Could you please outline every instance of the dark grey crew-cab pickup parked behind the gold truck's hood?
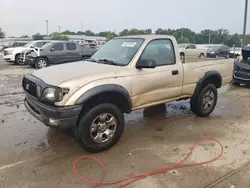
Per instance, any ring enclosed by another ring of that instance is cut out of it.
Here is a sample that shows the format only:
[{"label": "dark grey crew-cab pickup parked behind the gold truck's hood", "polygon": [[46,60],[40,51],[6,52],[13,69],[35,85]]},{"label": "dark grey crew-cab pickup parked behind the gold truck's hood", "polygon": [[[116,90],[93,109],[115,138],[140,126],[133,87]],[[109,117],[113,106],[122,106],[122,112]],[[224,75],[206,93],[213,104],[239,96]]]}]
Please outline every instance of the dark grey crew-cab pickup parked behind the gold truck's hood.
[{"label": "dark grey crew-cab pickup parked behind the gold truck's hood", "polygon": [[21,61],[37,69],[51,64],[80,61],[91,57],[97,50],[82,47],[74,42],[50,41],[38,52],[30,50],[21,54]]}]

